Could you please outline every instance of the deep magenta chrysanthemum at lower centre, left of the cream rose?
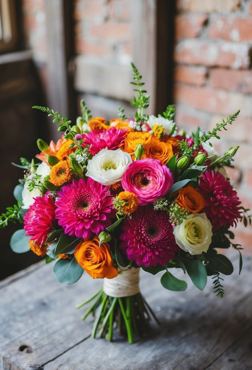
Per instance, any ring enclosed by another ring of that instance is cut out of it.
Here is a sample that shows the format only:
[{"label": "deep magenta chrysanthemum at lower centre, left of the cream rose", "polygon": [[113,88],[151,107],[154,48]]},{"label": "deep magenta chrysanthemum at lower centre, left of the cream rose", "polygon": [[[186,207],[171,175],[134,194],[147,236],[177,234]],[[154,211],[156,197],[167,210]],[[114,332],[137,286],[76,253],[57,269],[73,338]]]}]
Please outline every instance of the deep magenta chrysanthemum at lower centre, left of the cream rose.
[{"label": "deep magenta chrysanthemum at lower centre, left of the cream rose", "polygon": [[129,260],[138,266],[166,265],[179,250],[173,227],[165,211],[154,211],[153,206],[138,207],[132,218],[123,220],[124,233],[120,244]]}]

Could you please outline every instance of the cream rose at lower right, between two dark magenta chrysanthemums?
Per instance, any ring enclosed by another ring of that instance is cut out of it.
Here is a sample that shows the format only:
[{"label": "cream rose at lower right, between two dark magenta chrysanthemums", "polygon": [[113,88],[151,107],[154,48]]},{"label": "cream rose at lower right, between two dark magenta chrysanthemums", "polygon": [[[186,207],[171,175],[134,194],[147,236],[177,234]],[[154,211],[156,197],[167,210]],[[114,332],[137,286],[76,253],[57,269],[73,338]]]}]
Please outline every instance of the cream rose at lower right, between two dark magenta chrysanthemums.
[{"label": "cream rose at lower right, between two dark magenta chrysanthemums", "polygon": [[191,213],[173,233],[178,246],[191,255],[207,252],[212,238],[212,225],[205,213]]}]

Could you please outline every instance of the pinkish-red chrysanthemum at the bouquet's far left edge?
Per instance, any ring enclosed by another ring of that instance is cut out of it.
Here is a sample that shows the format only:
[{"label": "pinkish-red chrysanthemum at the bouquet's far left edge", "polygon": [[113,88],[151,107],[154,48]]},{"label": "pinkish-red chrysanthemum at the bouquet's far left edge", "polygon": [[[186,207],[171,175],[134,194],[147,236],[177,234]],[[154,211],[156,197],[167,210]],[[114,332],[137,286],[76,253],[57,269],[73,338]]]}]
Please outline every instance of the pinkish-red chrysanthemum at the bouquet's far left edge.
[{"label": "pinkish-red chrysanthemum at the bouquet's far left edge", "polygon": [[29,211],[24,215],[25,235],[31,235],[30,240],[44,244],[48,234],[55,226],[55,203],[51,196],[36,196]]}]

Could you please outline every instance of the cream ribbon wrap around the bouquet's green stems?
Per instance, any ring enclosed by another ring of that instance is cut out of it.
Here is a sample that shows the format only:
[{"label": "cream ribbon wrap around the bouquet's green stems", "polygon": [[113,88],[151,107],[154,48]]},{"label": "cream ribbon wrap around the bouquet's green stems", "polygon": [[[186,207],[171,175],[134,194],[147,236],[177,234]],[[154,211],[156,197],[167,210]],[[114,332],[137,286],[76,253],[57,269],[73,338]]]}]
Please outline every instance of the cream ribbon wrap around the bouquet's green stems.
[{"label": "cream ribbon wrap around the bouquet's green stems", "polygon": [[122,273],[113,279],[104,278],[103,291],[110,297],[120,298],[133,296],[139,290],[139,270],[121,267]]}]

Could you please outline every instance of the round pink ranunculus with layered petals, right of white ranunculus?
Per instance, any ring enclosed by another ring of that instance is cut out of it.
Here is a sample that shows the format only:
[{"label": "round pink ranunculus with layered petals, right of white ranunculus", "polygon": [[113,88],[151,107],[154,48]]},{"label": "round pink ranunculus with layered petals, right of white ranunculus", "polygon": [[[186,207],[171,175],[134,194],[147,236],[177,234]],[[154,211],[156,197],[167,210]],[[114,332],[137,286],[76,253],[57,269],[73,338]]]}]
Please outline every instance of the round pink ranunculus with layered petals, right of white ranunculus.
[{"label": "round pink ranunculus with layered petals, right of white ranunculus", "polygon": [[122,177],[123,189],[137,195],[139,205],[162,198],[173,185],[173,174],[158,159],[140,159],[129,165]]}]

